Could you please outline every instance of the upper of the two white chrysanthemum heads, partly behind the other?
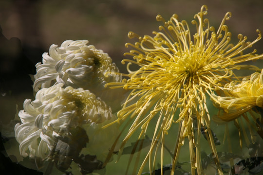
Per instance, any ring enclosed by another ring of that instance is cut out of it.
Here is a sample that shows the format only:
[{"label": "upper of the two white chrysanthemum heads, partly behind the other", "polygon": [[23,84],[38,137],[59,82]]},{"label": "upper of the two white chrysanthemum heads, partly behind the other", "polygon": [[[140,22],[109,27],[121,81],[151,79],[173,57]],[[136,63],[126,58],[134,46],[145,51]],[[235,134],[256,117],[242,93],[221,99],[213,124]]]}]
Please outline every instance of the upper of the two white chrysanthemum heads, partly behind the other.
[{"label": "upper of the two white chrysanthemum heads, partly behind the other", "polygon": [[87,44],[88,40],[66,40],[60,47],[51,45],[49,53],[43,53],[43,63],[36,64],[34,90],[62,83],[88,89],[106,101],[115,100],[114,92],[104,85],[121,82],[119,70],[107,53]]}]

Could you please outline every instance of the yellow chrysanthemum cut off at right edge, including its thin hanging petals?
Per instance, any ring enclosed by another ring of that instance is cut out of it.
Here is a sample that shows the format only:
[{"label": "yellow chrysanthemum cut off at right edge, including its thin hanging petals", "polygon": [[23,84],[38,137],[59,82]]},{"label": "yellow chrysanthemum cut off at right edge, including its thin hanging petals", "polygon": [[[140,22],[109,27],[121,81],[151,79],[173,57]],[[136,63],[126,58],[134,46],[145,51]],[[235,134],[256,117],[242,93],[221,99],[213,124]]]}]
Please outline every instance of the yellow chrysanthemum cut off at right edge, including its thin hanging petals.
[{"label": "yellow chrysanthemum cut off at right edge, including its thin hanging petals", "polygon": [[[263,120],[261,117],[263,114],[263,70],[261,73],[255,72],[250,77],[243,78],[242,82],[232,81],[226,84],[223,92],[224,96],[212,94],[215,105],[225,111],[214,117],[214,120],[218,123],[234,121],[239,128],[239,136],[241,136],[240,128],[242,128],[246,144],[249,145],[243,122],[238,120],[242,116],[251,133],[251,141],[255,141],[252,128],[263,138]],[[249,120],[246,112],[250,113],[252,120]],[[255,112],[261,113],[261,115],[255,115]],[[241,137],[240,145],[242,146]]]}]

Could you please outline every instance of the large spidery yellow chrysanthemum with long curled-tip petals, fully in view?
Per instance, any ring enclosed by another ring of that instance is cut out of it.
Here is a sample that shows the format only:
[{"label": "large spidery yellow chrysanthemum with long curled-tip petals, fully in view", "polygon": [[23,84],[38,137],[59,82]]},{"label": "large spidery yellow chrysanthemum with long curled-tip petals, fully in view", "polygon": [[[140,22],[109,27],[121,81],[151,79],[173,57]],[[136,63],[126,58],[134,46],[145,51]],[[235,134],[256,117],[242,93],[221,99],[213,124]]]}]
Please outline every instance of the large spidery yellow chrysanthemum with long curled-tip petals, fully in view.
[{"label": "large spidery yellow chrysanthemum with long curled-tip petals, fully in view", "polygon": [[[196,26],[196,33],[191,35],[188,23],[179,21],[177,15],[173,15],[169,21],[165,21],[160,15],[157,21],[163,21],[160,31],[153,32],[151,37],[138,36],[132,32],[129,37],[138,38],[139,42],[126,44],[134,50],[125,55],[133,56],[134,60],[124,59],[128,62],[129,77],[121,83],[107,84],[111,88],[130,89],[131,93],[123,108],[118,112],[118,122],[122,122],[130,116],[134,119],[124,138],[121,148],[127,140],[139,128],[141,134],[138,139],[144,137],[150,121],[157,118],[150,151],[145,157],[138,174],[141,174],[147,161],[150,161],[150,171],[154,169],[155,157],[158,148],[161,148],[161,174],[163,173],[163,154],[165,135],[173,123],[179,123],[179,132],[175,144],[172,172],[174,173],[181,146],[185,138],[189,141],[191,172],[203,175],[200,158],[200,128],[207,128],[208,143],[215,155],[215,163],[218,173],[222,175],[217,151],[210,129],[210,116],[207,109],[207,97],[211,92],[224,87],[234,76],[232,70],[256,69],[253,66],[237,65],[250,60],[262,58],[263,55],[253,53],[243,54],[243,51],[251,47],[261,39],[261,34],[253,42],[246,42],[246,37],[238,35],[239,42],[230,44],[231,33],[225,25],[231,13],[226,13],[218,30],[209,25],[204,16],[207,15],[207,6],[194,16],[192,24]],[[258,31],[259,32],[259,31]],[[192,37],[192,38],[191,38]],[[129,66],[135,64],[138,70],[131,71]],[[176,112],[179,112],[179,117]],[[197,132],[194,132],[194,121],[197,121]],[[196,135],[196,136],[195,136]],[[119,156],[121,155],[119,152]]]}]

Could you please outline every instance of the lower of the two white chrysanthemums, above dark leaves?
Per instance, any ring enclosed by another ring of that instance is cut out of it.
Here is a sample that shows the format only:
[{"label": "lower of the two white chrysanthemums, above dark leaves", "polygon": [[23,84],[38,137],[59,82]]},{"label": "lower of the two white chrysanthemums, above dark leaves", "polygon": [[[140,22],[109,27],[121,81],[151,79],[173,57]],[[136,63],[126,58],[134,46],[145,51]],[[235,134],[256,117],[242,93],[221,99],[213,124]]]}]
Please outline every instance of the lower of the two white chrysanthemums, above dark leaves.
[{"label": "lower of the two white chrysanthemums, above dark leaves", "polygon": [[[21,123],[15,126],[20,154],[23,157],[45,158],[59,140],[73,140],[64,142],[69,145],[69,150],[80,149],[75,155],[79,156],[83,147],[79,144],[83,144],[84,140],[83,149],[90,150],[82,152],[104,161],[118,133],[116,126],[101,128],[116,119],[111,108],[89,90],[62,86],[57,84],[42,88],[37,92],[36,100],[24,101],[24,110],[19,111]],[[84,135],[81,131],[85,131]],[[88,139],[85,142],[84,138],[75,136],[87,136]],[[95,148],[96,152],[92,152]],[[57,150],[57,147],[56,151],[65,153],[65,150]]]}]

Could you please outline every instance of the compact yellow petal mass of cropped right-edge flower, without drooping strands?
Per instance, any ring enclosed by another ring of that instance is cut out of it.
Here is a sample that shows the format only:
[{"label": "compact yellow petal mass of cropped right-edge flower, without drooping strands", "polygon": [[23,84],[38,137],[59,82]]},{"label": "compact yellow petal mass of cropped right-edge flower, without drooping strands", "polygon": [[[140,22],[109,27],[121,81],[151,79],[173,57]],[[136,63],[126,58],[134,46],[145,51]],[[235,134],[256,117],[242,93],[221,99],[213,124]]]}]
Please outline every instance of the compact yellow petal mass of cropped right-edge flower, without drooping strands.
[{"label": "compact yellow petal mass of cropped right-edge flower, without drooping strands", "polygon": [[263,107],[263,71],[255,72],[251,76],[243,78],[241,83],[232,81],[225,85],[225,95],[213,94],[216,105],[224,109],[226,113],[218,116],[223,121],[232,121],[245,112],[258,106]]}]

